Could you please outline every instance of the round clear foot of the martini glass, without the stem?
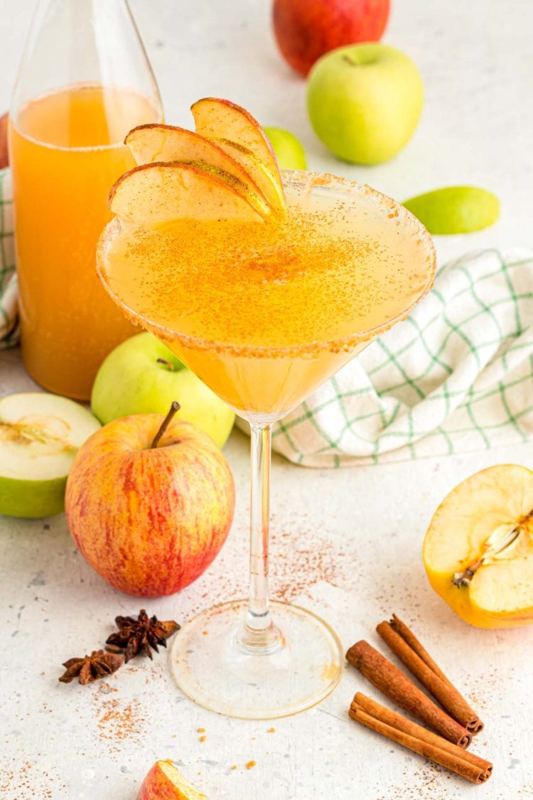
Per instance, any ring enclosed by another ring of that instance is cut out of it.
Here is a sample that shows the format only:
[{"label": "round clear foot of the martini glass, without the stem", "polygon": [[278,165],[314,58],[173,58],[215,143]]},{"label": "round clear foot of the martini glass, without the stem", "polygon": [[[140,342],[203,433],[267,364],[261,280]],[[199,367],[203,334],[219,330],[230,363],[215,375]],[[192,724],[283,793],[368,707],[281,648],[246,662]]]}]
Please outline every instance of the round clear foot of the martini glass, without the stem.
[{"label": "round clear foot of the martini glass, without the stem", "polygon": [[311,611],[270,607],[279,644],[259,654],[238,642],[248,601],[213,606],[188,622],[169,654],[177,686],[199,705],[241,719],[287,717],[324,700],[344,666],[339,638]]}]

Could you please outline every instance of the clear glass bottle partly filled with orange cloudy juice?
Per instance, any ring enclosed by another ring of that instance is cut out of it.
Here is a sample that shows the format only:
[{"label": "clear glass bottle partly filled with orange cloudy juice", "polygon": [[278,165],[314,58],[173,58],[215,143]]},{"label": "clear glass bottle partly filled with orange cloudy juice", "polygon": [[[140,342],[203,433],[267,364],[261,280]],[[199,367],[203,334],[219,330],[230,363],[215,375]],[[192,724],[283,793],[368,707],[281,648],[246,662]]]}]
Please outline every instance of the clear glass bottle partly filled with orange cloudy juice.
[{"label": "clear glass bottle partly filled with orange cloudy juice", "polygon": [[22,359],[46,389],[88,399],[133,327],[97,279],[125,134],[161,103],[125,0],[42,0],[10,112]]}]

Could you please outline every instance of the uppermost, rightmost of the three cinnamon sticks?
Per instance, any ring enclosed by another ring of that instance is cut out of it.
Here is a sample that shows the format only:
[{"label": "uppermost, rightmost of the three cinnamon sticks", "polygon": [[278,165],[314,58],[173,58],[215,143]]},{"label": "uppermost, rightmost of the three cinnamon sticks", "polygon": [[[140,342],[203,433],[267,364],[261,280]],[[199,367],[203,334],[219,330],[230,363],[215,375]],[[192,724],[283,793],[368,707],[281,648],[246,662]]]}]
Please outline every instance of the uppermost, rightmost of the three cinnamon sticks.
[{"label": "uppermost, rightmost of the three cinnamon sticks", "polygon": [[376,630],[392,652],[431,692],[451,717],[460,722],[471,734],[479,734],[479,731],[483,730],[483,722],[478,715],[436,665],[412,630],[409,630],[396,614],[392,614],[391,622],[380,622]]}]

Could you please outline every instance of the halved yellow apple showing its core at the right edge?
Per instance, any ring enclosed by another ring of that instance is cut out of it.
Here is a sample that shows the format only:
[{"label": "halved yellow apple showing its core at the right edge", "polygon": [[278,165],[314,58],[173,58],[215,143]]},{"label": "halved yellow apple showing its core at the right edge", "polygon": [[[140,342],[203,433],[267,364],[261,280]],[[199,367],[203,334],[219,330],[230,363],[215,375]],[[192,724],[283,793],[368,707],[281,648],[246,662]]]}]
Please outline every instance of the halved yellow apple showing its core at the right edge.
[{"label": "halved yellow apple showing its core at the right edge", "polygon": [[501,464],[444,498],[424,539],[437,594],[471,625],[533,623],[533,472]]}]

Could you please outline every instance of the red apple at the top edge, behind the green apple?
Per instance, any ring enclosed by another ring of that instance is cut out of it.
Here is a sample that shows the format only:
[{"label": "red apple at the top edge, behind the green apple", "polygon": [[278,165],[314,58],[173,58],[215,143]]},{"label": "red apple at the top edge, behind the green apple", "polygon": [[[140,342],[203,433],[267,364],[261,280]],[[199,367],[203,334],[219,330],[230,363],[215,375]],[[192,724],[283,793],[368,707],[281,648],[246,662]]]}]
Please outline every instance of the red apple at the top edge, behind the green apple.
[{"label": "red apple at the top edge, behind the green apple", "polygon": [[285,60],[307,75],[324,53],[355,42],[378,42],[390,0],[274,0],[272,21]]}]

